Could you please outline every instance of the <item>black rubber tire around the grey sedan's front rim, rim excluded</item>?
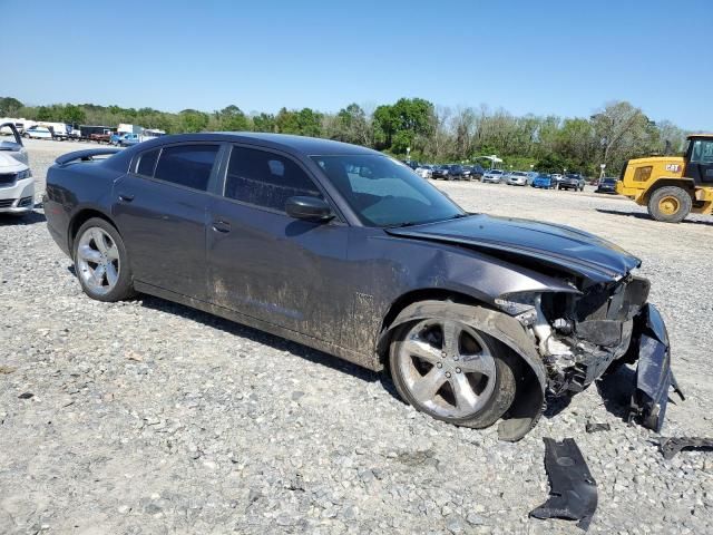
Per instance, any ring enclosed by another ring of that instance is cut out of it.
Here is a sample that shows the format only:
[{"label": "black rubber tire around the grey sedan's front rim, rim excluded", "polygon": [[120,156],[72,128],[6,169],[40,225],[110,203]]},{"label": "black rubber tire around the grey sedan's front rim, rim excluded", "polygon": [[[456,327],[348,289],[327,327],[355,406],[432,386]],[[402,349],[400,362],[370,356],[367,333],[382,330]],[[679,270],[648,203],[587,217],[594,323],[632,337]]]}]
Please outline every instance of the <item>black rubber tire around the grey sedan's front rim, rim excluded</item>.
[{"label": "black rubber tire around the grey sedan's front rim, rim excluded", "polygon": [[501,342],[478,331],[478,334],[487,343],[490,354],[495,359],[496,378],[494,391],[484,407],[476,414],[469,415],[465,418],[452,418],[438,415],[414,399],[401,374],[400,367],[397,366],[395,356],[403,343],[404,337],[413,324],[414,323],[407,323],[395,329],[389,348],[389,371],[401,399],[420,412],[424,412],[432,418],[447,421],[456,426],[482,429],[490,427],[498,421],[498,419],[507,412],[515,399],[517,383],[516,378],[519,377],[518,358],[514,356],[509,348],[504,346]]}]

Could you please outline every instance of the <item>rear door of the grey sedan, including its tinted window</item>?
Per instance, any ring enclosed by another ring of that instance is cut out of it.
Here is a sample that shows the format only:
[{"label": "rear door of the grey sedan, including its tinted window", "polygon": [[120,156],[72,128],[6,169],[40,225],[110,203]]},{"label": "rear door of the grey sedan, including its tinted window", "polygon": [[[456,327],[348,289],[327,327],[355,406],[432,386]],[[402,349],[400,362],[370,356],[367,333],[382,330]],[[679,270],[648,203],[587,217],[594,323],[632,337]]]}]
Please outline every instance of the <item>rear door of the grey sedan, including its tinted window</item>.
[{"label": "rear door of the grey sedan, including its tinted window", "polygon": [[141,153],[114,187],[114,215],[135,279],[206,299],[205,228],[219,144],[185,143]]}]

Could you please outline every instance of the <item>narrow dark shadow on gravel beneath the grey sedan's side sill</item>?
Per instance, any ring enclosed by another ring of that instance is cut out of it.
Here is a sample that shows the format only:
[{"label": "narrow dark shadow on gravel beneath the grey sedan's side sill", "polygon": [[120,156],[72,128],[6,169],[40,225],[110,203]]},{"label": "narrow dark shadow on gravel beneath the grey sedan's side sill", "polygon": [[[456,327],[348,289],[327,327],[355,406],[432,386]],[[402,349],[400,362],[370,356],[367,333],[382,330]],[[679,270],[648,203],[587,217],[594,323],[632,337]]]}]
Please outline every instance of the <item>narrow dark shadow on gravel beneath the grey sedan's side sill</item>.
[{"label": "narrow dark shadow on gravel beneath the grey sedan's side sill", "polygon": [[[158,310],[162,312],[180,315],[182,318],[197,321],[199,323],[203,323],[204,325],[219,329],[229,334],[246,338],[252,342],[263,343],[280,351],[290,351],[292,354],[295,354],[300,358],[325,366],[333,370],[349,373],[364,381],[374,382],[379,379],[379,376],[383,377],[382,373],[367,370],[365,368],[352,364],[351,362],[342,360],[338,357],[323,353],[321,351],[318,351],[316,349],[307,348],[306,346],[285,340],[284,338],[275,337],[257,329],[225,320],[223,318],[218,318],[217,315],[208,314],[189,307],[184,307],[183,304],[174,303],[152,295],[141,295],[141,303],[143,307],[152,310]],[[382,382],[384,381],[382,380]],[[388,380],[384,382],[384,388],[392,395],[397,396],[395,390],[392,386],[390,386]]]}]

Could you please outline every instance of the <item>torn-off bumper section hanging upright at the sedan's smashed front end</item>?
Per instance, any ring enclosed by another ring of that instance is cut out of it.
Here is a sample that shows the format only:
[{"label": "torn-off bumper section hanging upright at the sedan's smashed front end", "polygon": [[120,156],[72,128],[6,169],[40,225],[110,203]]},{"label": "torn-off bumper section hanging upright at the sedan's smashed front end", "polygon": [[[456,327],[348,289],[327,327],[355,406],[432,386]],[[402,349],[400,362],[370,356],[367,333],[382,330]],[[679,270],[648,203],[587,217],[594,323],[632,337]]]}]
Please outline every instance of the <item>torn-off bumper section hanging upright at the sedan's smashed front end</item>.
[{"label": "torn-off bumper section hanging upright at the sedan's smashed front end", "polygon": [[634,319],[632,350],[637,350],[638,367],[628,420],[658,432],[666,416],[668,389],[673,386],[683,399],[671,371],[671,346],[661,313],[646,304]]}]

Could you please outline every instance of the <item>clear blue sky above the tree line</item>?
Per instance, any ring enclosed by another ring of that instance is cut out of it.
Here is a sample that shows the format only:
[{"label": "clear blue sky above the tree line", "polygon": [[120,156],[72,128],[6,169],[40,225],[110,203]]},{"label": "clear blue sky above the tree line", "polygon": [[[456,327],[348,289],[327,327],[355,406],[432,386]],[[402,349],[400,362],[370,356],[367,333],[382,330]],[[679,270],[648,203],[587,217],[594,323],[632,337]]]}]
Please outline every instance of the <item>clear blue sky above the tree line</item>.
[{"label": "clear blue sky above the tree line", "polygon": [[[713,129],[713,6],[641,1],[0,0],[0,95],[245,111],[399,97]],[[674,10],[675,8],[675,10]],[[705,42],[707,41],[707,42]],[[13,50],[12,56],[7,52]]]}]

